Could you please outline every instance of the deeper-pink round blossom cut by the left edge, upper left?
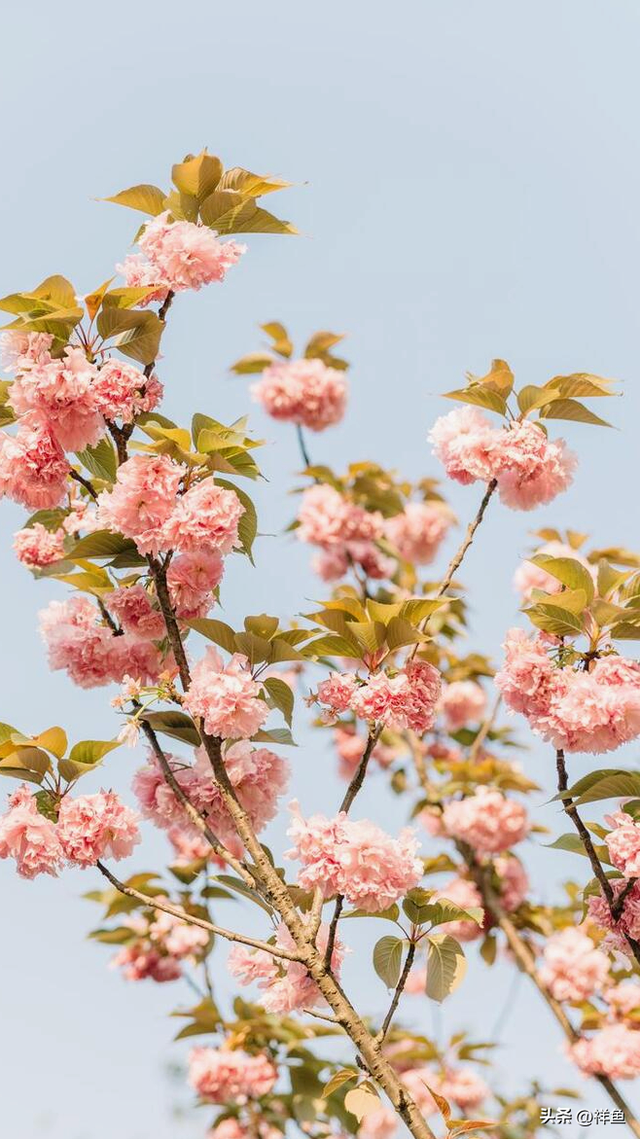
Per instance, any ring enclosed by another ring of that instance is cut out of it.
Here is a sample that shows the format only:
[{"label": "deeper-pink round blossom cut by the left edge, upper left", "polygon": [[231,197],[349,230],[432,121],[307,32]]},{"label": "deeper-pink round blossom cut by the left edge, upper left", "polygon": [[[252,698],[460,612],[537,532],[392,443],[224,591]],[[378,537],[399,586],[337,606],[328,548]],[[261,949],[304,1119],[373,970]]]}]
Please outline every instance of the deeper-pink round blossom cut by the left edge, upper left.
[{"label": "deeper-pink round blossom cut by the left edge, upper left", "polygon": [[30,510],[52,509],[66,495],[69,465],[48,424],[24,416],[15,435],[0,432],[0,498]]}]

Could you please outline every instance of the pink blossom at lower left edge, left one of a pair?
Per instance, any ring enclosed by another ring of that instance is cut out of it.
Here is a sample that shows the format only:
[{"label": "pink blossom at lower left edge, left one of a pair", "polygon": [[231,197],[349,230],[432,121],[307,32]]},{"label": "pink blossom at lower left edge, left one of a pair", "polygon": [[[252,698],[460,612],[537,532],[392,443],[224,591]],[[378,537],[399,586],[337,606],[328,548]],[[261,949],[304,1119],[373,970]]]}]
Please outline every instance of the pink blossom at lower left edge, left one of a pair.
[{"label": "pink blossom at lower left edge, left one of a pair", "polygon": [[26,784],[9,796],[9,810],[0,817],[0,859],[5,858],[15,859],[20,878],[55,877],[64,865],[57,827],[40,814]]}]

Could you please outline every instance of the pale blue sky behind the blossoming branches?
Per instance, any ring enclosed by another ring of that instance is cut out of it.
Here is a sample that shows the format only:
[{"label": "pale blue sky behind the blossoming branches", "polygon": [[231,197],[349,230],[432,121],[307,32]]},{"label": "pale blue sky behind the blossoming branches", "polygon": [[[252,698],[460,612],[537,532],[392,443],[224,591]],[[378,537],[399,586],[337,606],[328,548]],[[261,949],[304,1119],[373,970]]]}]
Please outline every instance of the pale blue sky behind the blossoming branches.
[{"label": "pale blue sky behind the blossoming branches", "polygon": [[[247,386],[225,369],[257,347],[259,322],[285,320],[300,338],[337,328],[348,331],[353,361],[350,415],[312,441],[314,457],[336,466],[375,457],[418,477],[437,474],[425,441],[446,408],[437,393],[458,386],[466,369],[481,372],[499,355],[522,384],[574,370],[618,376],[625,399],[609,411],[622,433],[568,431],[581,457],[575,487],[531,516],[492,510],[463,573],[475,582],[470,647],[498,655],[530,528],[569,524],[598,544],[638,546],[633,0],[245,0],[235,8],[61,0],[13,6],[2,32],[2,293],[56,271],[83,293],[102,281],[137,222],[95,199],[137,181],[166,182],[187,150],[208,146],[229,165],[282,174],[296,188],[273,204],[305,236],[249,238],[223,288],[174,305],[162,363],[169,411],[197,408],[222,420],[245,412]],[[270,483],[257,499],[262,528],[276,532],[292,515],[285,491],[298,462],[295,440],[255,408],[252,423],[270,443],[262,457]],[[465,519],[477,494],[457,489],[452,499]],[[76,738],[106,737],[105,694],[77,694],[44,664],[35,615],[51,595],[8,551],[20,518],[6,503],[0,510],[0,719],[24,729],[60,721]],[[230,618],[263,608],[290,615],[318,596],[295,540],[264,539],[257,558],[257,572],[237,559],[225,582]],[[327,773],[333,757],[323,741],[300,735],[295,790],[303,805],[331,810],[339,795]],[[548,762],[538,747],[524,757],[547,784]],[[109,779],[126,787],[134,763],[130,752],[116,753]],[[389,810],[372,782],[362,813],[388,825]],[[558,825],[553,809],[539,817]],[[162,849],[148,836],[136,865],[157,863]],[[525,857],[544,896],[563,872],[582,872],[576,860],[533,846]],[[107,972],[107,951],[83,940],[93,913],[79,895],[95,877],[30,884],[2,863],[0,878],[7,1134],[200,1136],[206,1113],[171,1117],[165,1067],[180,1054],[165,1014],[180,994],[125,985]],[[223,976],[222,964],[216,972]],[[347,984],[364,995],[359,972],[354,954]],[[478,983],[445,1006],[446,1031],[482,1034],[502,1007],[507,970],[490,982],[483,967],[474,975]],[[503,1085],[533,1074],[566,1083],[555,1027],[525,990],[503,1031]],[[384,1007],[378,982],[366,995],[371,1008]],[[426,1002],[411,1008],[429,1031]],[[596,1091],[588,1103],[600,1104]]]}]

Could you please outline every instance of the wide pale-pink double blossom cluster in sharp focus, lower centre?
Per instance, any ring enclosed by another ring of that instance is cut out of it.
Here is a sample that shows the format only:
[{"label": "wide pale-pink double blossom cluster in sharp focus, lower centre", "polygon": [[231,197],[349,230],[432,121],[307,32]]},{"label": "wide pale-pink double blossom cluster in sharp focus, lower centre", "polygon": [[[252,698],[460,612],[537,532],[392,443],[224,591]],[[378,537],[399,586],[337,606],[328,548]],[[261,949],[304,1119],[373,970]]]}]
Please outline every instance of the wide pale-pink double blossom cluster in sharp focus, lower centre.
[{"label": "wide pale-pink double blossom cluster in sharp focus, lower centre", "polygon": [[302,862],[297,880],[304,890],[318,886],[325,898],[343,894],[359,909],[376,913],[422,877],[411,830],[392,838],[368,819],[354,822],[344,811],[334,819],[323,814],[303,819],[297,803],[292,809],[287,835],[294,845],[285,858]]}]

